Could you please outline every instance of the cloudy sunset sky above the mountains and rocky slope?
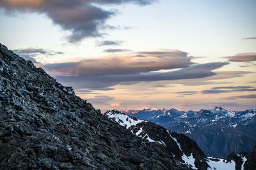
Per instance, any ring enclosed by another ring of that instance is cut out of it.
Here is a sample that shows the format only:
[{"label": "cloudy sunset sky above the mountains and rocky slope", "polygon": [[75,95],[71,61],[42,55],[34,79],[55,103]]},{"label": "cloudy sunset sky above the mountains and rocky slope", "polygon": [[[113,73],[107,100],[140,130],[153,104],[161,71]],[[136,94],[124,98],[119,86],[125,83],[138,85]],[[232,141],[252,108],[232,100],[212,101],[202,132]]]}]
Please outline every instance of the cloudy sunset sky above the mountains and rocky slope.
[{"label": "cloudy sunset sky above the mountains and rocky slope", "polygon": [[102,111],[255,109],[255,0],[0,0],[0,43]]}]

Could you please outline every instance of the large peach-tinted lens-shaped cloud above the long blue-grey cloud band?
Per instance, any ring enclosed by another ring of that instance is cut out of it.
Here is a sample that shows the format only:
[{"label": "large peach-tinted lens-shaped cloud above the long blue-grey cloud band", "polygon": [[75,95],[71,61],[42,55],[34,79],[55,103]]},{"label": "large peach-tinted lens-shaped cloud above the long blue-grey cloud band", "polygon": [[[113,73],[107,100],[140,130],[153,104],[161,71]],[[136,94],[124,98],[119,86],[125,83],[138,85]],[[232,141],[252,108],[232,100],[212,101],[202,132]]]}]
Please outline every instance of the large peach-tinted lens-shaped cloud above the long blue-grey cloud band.
[{"label": "large peach-tinted lens-shaped cloud above the long blue-grey cloud band", "polygon": [[[140,53],[140,52],[139,52]],[[79,62],[64,62],[57,64],[45,64],[49,71],[69,73],[73,76],[90,76],[100,74],[139,74],[161,69],[179,69],[189,67],[193,57],[179,50],[164,50],[160,56],[158,53],[145,54],[138,57],[138,53],[124,53],[109,57],[83,59]],[[179,54],[179,55],[178,55]],[[202,73],[203,74],[203,73]]]}]

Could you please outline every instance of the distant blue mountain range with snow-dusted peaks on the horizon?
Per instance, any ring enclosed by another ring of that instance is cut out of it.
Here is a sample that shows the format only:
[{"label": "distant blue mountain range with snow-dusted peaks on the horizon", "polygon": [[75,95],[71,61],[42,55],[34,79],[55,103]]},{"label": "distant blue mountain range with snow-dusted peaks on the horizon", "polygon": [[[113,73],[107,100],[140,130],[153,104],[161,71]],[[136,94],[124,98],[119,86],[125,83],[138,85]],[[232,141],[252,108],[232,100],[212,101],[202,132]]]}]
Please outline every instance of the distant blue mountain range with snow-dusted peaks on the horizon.
[{"label": "distant blue mountain range with snow-dusted peaks on the horizon", "polygon": [[256,110],[230,111],[216,107],[188,112],[175,109],[122,112],[186,134],[208,157],[223,159],[232,152],[249,152],[256,145]]}]

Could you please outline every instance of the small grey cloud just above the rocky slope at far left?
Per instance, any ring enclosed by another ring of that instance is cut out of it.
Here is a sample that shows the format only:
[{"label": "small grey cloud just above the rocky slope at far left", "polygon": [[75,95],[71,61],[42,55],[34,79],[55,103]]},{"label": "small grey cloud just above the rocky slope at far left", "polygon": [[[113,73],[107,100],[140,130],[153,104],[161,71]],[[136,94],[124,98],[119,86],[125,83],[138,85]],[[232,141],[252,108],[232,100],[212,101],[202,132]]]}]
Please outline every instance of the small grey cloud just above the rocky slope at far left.
[{"label": "small grey cloud just above the rocky slope at far left", "polygon": [[46,57],[47,55],[60,55],[63,54],[63,52],[54,52],[51,50],[45,50],[43,48],[22,48],[22,49],[15,49],[13,52],[20,55],[20,57],[23,57],[26,60],[31,60],[34,64],[40,64],[36,60],[36,57],[38,55],[44,55]]}]

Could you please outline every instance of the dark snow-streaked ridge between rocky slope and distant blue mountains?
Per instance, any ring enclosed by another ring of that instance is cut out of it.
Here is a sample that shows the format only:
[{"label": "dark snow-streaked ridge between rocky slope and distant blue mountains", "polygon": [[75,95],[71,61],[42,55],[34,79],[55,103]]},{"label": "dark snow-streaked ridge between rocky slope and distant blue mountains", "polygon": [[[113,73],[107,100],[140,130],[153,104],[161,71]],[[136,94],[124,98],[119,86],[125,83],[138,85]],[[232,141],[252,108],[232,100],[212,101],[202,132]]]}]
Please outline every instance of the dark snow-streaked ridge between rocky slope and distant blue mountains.
[{"label": "dark snow-streaked ridge between rocky slope and distant blue mountains", "polygon": [[255,148],[250,153],[232,153],[228,155],[227,160],[206,157],[195,141],[184,134],[168,131],[157,124],[130,117],[117,110],[109,110],[106,115],[129,129],[136,136],[163,145],[168,153],[180,160],[180,164],[188,165],[192,169],[252,169],[253,164],[255,164],[253,159],[256,153]]}]

